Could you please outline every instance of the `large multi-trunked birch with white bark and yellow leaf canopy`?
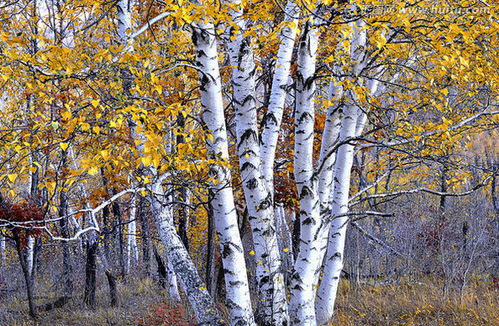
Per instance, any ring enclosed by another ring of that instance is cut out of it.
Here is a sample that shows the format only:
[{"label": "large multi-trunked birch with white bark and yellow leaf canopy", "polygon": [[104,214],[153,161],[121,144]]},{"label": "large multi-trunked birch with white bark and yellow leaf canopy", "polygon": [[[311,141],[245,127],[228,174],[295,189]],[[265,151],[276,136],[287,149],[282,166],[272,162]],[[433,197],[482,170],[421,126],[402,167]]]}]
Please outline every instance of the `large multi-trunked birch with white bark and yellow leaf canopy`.
[{"label": "large multi-trunked birch with white bark and yellow leaf canopy", "polygon": [[[25,188],[43,189],[44,241],[63,241],[67,253],[69,241],[86,237],[91,305],[97,261],[113,261],[108,239],[123,223],[127,250],[117,258],[126,255],[128,268],[138,260],[136,235],[149,231],[135,223],[137,201],[147,199],[141,210],[154,219],[157,253],[167,258],[170,301],[185,298],[199,324],[328,324],[348,223],[386,216],[362,211],[366,201],[417,190],[377,193],[390,168],[380,164],[374,181],[357,182],[352,171],[367,171],[355,156],[431,160],[497,114],[497,81],[488,77],[497,65],[485,50],[495,23],[479,28],[478,16],[455,13],[422,23],[420,12],[408,13],[429,1],[397,2],[400,11],[381,14],[370,11],[374,1],[50,2],[68,8],[48,15],[53,35],[23,30],[31,15],[23,4],[9,11],[12,19],[0,18],[0,95],[12,97],[1,109],[1,198],[19,204]],[[66,42],[49,42],[67,26]],[[34,40],[44,45],[26,50]],[[20,119],[18,107],[30,107],[30,119]],[[26,187],[29,177],[37,180]],[[279,187],[289,188],[287,198]],[[176,196],[181,188],[189,200]],[[422,189],[448,195],[430,188]],[[111,222],[109,205],[124,203],[130,209],[116,209]],[[212,208],[216,237],[206,245],[215,258],[219,244],[228,321],[206,289],[216,280],[206,286],[198,272],[217,262],[204,261],[204,243],[192,249],[203,232],[192,234],[194,222],[176,225],[179,205],[200,220],[208,214],[196,206]],[[22,226],[0,225],[7,236]],[[23,257],[32,271],[31,256]]]}]

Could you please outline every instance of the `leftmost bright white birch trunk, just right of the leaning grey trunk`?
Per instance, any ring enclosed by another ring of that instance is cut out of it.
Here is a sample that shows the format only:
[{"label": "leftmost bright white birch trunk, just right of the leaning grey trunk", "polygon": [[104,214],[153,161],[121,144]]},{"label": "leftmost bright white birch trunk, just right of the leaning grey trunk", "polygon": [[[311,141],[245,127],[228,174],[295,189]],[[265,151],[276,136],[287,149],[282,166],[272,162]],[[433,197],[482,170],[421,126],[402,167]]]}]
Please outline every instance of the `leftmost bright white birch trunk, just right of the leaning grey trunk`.
[{"label": "leftmost bright white birch trunk, just right of the leaning grey trunk", "polygon": [[[214,35],[215,30],[212,24],[200,24],[193,27],[192,40],[196,48],[201,78],[202,120],[209,129],[210,135],[207,140],[208,153],[213,159],[227,161],[229,158],[227,130]],[[230,170],[221,164],[216,164],[212,166],[211,173],[216,180],[212,183],[215,194],[212,206],[225,269],[230,323],[231,325],[254,325]]]}]

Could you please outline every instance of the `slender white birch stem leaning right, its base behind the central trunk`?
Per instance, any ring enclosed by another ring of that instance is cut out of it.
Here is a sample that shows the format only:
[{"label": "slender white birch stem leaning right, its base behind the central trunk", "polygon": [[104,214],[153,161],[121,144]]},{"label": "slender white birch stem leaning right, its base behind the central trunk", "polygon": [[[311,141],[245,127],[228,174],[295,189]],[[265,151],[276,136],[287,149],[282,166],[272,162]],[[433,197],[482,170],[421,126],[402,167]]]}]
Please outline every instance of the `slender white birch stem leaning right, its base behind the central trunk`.
[{"label": "slender white birch stem leaning right, its base behind the central trunk", "polygon": [[[281,128],[282,115],[286,100],[286,87],[290,79],[291,57],[296,39],[296,28],[299,15],[299,7],[293,0],[289,0],[285,8],[284,23],[287,25],[281,29],[281,43],[277,52],[274,76],[272,77],[272,89],[270,91],[269,107],[263,119],[263,130],[261,137],[261,161],[262,173],[269,189],[274,189],[274,158]],[[291,25],[291,26],[290,26]]]}]

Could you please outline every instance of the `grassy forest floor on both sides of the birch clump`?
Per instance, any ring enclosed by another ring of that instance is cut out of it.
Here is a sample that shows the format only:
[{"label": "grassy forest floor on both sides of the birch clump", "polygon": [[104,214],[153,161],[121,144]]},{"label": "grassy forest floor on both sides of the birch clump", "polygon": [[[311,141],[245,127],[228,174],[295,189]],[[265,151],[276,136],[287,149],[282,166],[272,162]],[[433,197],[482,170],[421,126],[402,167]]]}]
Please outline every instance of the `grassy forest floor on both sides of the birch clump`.
[{"label": "grassy forest floor on both sides of the birch clump", "polygon": [[[104,285],[104,284],[103,284]],[[443,295],[436,282],[364,283],[343,281],[333,326],[481,326],[499,325],[499,288],[490,281],[474,281],[462,293]],[[41,293],[46,293],[41,291]],[[118,307],[110,307],[107,288],[97,293],[96,309],[77,297],[61,308],[40,311],[37,321],[27,314],[24,293],[0,297],[0,325],[195,325],[186,307],[167,303],[165,291],[150,280],[128,280],[119,285]],[[38,298],[37,306],[57,296]],[[43,309],[39,309],[43,310]]]}]

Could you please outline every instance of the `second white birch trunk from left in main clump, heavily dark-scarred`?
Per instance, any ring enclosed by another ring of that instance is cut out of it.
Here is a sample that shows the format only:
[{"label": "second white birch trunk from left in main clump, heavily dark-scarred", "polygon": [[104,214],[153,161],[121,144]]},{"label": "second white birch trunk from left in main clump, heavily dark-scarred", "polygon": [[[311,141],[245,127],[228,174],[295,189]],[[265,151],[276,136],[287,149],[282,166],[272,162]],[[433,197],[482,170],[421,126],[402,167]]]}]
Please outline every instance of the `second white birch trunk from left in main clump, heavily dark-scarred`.
[{"label": "second white birch trunk from left in main clump, heavily dark-scarred", "polygon": [[[234,2],[233,2],[234,3]],[[288,325],[284,276],[277,242],[272,193],[261,170],[255,100],[255,61],[241,12],[232,12],[239,32],[229,43],[239,166],[255,249],[258,322]]]}]

